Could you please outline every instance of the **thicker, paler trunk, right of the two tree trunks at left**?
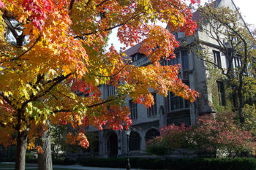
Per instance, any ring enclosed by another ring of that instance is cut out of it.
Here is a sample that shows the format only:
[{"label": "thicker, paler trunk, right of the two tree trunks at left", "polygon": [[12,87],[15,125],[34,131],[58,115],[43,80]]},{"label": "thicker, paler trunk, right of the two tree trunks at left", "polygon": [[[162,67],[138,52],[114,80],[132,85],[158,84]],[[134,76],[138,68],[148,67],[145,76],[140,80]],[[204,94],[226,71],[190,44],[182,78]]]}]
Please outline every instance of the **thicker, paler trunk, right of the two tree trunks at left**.
[{"label": "thicker, paler trunk, right of the two tree trunks at left", "polygon": [[42,147],[44,152],[38,154],[38,170],[53,170],[50,147],[50,130],[42,133],[42,137],[39,139],[39,146]]}]

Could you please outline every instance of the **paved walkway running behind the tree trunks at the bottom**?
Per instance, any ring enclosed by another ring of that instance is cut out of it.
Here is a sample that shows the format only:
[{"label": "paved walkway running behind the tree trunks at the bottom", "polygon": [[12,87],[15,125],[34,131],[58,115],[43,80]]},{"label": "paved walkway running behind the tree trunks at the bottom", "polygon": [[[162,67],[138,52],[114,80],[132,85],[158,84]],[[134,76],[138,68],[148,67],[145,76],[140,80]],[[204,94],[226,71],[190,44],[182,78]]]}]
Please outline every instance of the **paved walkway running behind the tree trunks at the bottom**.
[{"label": "paved walkway running behind the tree trunks at the bottom", "polygon": [[[1,163],[11,163],[14,164],[14,162],[1,162]],[[26,169],[34,169],[37,168],[37,163],[26,163]],[[34,167],[33,167],[34,166]],[[91,167],[91,166],[81,166],[81,165],[71,165],[71,166],[60,166],[60,165],[53,165],[53,168],[60,168],[60,169],[83,169],[83,170],[125,170],[125,169],[118,169],[118,168],[100,168],[100,167]],[[14,169],[14,168],[0,168],[0,170],[7,170],[7,169]],[[136,169],[131,169],[136,170]],[[143,170],[143,169],[140,169]]]}]

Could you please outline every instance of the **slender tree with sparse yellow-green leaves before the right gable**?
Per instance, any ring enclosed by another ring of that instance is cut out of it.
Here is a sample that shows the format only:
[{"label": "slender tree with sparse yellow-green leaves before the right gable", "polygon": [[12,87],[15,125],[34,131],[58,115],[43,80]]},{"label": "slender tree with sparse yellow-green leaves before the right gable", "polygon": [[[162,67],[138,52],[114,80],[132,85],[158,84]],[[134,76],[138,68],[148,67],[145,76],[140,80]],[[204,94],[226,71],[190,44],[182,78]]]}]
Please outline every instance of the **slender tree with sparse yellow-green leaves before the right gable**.
[{"label": "slender tree with sparse yellow-green leaves before the right gable", "polygon": [[[252,105],[255,100],[255,36],[244,23],[238,9],[229,7],[215,7],[217,1],[200,7],[197,12],[201,18],[199,31],[206,33],[214,40],[217,48],[225,55],[227,66],[220,66],[214,62],[205,49],[205,43],[200,42],[197,49],[197,56],[209,63],[215,69],[219,69],[227,80],[227,87],[233,93],[233,105],[238,111],[241,124],[245,121],[243,108],[246,104]],[[195,50],[194,49],[194,50]]]}]

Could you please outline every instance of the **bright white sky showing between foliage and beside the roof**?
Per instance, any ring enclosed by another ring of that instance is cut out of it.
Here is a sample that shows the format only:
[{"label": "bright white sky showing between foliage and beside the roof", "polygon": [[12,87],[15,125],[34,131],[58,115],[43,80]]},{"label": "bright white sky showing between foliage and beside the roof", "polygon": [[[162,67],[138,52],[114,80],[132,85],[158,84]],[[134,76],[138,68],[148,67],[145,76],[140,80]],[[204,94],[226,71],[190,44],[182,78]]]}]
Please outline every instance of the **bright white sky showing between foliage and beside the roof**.
[{"label": "bright white sky showing between foliage and beside the roof", "polygon": [[[208,0],[200,0],[201,4],[204,4]],[[240,9],[241,15],[244,18],[246,23],[253,24],[256,28],[256,0],[233,0],[236,4],[236,7]],[[115,46],[116,50],[120,50],[120,47],[124,47],[124,45],[121,45],[120,42],[118,42],[118,39],[116,37],[117,34],[117,28],[112,31],[112,34],[110,34],[110,39],[108,41],[108,49],[111,44]]]}]

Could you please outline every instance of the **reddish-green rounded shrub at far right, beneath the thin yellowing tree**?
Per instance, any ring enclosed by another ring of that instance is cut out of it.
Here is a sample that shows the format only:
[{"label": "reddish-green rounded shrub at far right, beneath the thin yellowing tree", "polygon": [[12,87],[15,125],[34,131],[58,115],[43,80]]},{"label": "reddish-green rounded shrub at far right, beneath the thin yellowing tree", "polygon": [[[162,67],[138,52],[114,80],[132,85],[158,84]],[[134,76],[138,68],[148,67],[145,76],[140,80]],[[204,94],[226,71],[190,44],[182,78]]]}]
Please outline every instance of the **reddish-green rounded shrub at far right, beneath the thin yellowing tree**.
[{"label": "reddish-green rounded shrub at far right, beneath the thin yellowing tree", "polygon": [[252,134],[241,131],[234,123],[232,114],[225,112],[216,117],[203,116],[200,117],[199,124],[193,134],[195,150],[215,153],[220,150],[228,153],[228,157],[241,152],[252,152],[255,145]]}]

